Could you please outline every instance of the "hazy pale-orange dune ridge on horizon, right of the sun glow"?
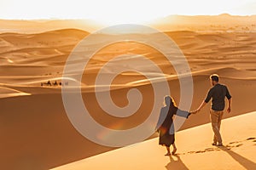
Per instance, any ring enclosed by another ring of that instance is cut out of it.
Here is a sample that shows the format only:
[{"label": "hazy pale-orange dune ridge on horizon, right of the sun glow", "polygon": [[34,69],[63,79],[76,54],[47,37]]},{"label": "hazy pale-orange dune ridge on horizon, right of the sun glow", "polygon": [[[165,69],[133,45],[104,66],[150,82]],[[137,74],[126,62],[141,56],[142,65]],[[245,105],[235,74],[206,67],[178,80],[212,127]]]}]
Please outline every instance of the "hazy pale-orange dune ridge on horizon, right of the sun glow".
[{"label": "hazy pale-orange dune ridge on horizon, right of the sun glow", "polygon": [[256,31],[256,15],[234,16],[230,14],[219,15],[170,15],[148,22],[161,31],[190,30],[190,31]]}]

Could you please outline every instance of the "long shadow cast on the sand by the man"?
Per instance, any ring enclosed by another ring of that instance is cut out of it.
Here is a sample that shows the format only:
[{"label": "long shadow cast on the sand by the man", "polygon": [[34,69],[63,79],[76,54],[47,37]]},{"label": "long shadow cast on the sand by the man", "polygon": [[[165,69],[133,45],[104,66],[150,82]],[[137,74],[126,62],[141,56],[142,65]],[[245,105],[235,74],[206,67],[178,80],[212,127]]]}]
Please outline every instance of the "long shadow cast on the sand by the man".
[{"label": "long shadow cast on the sand by the man", "polygon": [[236,160],[242,167],[246,169],[256,169],[256,163],[253,161],[248,160],[247,158],[240,156],[236,152],[229,150],[225,146],[218,147],[220,150],[224,150],[228,153],[234,160]]}]

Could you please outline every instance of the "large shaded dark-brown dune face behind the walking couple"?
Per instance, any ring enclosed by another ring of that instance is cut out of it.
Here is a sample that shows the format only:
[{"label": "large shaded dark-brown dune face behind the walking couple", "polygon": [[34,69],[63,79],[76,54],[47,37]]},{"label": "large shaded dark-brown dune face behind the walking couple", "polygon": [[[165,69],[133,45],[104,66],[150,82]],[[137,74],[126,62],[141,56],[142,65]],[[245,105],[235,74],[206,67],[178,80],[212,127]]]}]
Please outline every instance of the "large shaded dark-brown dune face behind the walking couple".
[{"label": "large shaded dark-brown dune face behind the walking couple", "polygon": [[[210,87],[208,74],[204,74],[194,77],[195,95],[191,110],[200,105]],[[230,92],[234,98],[232,112],[225,114],[224,118],[241,115],[247,111],[255,111],[253,102],[245,102],[245,100],[253,101],[254,99],[255,80],[223,78],[222,82],[230,86]],[[169,83],[172,96],[178,103],[178,81],[172,80]],[[0,160],[3,168],[48,169],[114,149],[94,144],[90,140],[84,139],[74,129],[64,111],[60,88],[27,85],[9,85],[9,88],[32,95],[0,99],[2,121],[0,129],[3,144],[1,150],[4,153]],[[116,128],[122,129],[134,127],[143,122],[150,110],[148,103],[152,102],[150,99],[153,98],[150,87],[143,85],[138,89],[142,91],[143,98],[147,100],[143,101],[142,108],[134,116],[125,120],[113,119],[106,115],[98,107],[94,94],[85,91],[83,95],[86,96],[86,104],[90,106],[89,109],[96,113],[94,118],[98,122],[105,127],[113,127],[118,123],[122,126]],[[243,90],[241,94],[241,89],[246,90]],[[112,94],[115,96],[117,105],[125,105],[123,94],[126,92],[126,88],[113,90]],[[201,111],[200,115],[189,117],[182,129],[209,122],[208,109],[209,105]],[[203,149],[206,148],[200,150]]]}]

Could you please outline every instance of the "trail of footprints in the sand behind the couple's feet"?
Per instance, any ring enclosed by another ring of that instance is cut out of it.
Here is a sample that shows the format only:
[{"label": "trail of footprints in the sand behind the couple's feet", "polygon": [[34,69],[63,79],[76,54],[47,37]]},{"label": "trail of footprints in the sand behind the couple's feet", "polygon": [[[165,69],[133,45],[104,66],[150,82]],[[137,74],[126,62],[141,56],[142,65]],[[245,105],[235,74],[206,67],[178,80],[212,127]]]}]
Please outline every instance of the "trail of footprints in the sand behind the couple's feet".
[{"label": "trail of footprints in the sand behind the couple's feet", "polygon": [[[256,138],[251,137],[241,141],[230,142],[229,144],[226,144],[220,147],[224,147],[227,150],[231,150],[232,148],[240,147],[241,145],[243,145],[244,142],[253,142],[254,143],[253,145],[256,145]],[[212,147],[212,148],[207,148],[205,150],[196,150],[196,151],[178,153],[177,155],[198,154],[198,153],[205,153],[207,151],[217,151],[217,150],[221,150],[221,149],[219,147],[214,147],[214,148]]]}]

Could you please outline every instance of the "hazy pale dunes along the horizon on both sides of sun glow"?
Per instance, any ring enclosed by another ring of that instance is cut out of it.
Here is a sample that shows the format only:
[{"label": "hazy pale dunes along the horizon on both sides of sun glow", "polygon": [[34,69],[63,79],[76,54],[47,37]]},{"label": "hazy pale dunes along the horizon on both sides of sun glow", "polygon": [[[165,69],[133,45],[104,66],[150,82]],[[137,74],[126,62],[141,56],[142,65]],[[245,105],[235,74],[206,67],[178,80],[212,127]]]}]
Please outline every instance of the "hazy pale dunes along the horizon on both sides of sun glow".
[{"label": "hazy pale dunes along the horizon on both sides of sun glow", "polygon": [[[169,15],[143,23],[160,31],[256,31],[256,15]],[[0,20],[0,32],[38,33],[73,28],[96,31],[107,25],[93,20]]]}]

